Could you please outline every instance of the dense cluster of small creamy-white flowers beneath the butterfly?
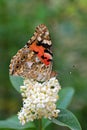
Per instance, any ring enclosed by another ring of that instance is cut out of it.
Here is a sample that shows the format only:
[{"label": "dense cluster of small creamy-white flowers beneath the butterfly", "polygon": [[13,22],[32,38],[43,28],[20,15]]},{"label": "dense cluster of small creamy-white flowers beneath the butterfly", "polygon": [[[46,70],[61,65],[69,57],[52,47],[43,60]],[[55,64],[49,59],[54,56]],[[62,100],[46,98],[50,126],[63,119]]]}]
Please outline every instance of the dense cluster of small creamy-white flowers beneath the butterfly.
[{"label": "dense cluster of small creamy-white flowers beneath the butterfly", "polygon": [[60,112],[56,109],[60,85],[56,77],[39,83],[34,80],[25,79],[21,86],[23,107],[18,113],[18,119],[24,125],[42,117],[51,119],[57,117]]}]

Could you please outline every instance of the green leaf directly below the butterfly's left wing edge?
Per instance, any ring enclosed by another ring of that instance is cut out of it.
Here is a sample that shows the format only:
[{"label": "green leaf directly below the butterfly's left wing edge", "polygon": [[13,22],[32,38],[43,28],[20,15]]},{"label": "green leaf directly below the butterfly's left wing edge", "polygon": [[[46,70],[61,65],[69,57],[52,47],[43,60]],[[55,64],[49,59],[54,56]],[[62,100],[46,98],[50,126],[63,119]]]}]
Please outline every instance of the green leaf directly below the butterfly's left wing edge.
[{"label": "green leaf directly below the butterfly's left wing edge", "polygon": [[20,86],[23,85],[23,78],[20,76],[10,76],[13,87],[20,92]]}]

